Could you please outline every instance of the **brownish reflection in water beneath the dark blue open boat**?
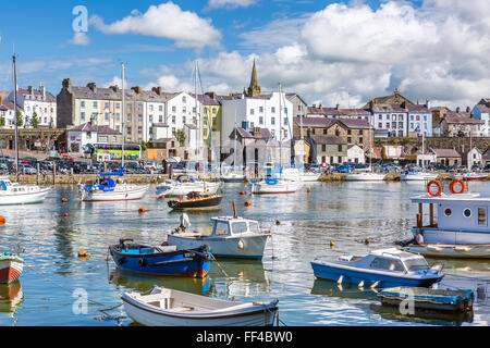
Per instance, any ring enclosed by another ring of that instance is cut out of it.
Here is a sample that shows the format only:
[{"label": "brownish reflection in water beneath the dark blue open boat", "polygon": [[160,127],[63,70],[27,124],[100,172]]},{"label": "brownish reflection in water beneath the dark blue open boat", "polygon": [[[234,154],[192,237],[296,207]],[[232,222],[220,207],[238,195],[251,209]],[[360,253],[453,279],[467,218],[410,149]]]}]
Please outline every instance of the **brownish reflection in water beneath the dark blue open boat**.
[{"label": "brownish reflection in water beneath the dark blue open boat", "polygon": [[197,295],[208,295],[211,285],[208,277],[148,277],[140,274],[125,272],[120,269],[114,269],[110,273],[109,283],[121,286],[124,289],[135,290],[138,293],[149,293],[155,288],[155,286],[163,286]]}]

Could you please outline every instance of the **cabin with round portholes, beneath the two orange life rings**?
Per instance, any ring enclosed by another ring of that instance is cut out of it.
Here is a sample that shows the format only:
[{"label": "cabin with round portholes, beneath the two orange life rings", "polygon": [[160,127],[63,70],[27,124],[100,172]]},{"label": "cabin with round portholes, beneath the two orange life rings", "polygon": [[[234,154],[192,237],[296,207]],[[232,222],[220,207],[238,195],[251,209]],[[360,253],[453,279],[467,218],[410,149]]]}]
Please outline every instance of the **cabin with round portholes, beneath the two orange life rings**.
[{"label": "cabin with round portholes, beneath the two orange life rings", "polygon": [[[414,234],[421,233],[426,243],[489,244],[490,184],[479,195],[429,194],[412,198],[418,204]],[[427,208],[428,207],[428,216]],[[428,217],[428,219],[427,219]],[[444,238],[433,238],[434,233]],[[427,236],[431,236],[428,240]]]}]

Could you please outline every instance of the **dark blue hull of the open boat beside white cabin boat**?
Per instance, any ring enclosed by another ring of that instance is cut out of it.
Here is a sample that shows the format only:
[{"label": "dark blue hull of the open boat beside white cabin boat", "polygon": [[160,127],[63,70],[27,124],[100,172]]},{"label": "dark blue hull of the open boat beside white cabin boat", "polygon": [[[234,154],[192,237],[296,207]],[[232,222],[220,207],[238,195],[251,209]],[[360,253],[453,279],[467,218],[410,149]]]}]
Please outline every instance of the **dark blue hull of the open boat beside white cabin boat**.
[{"label": "dark blue hull of the open boat beside white cabin boat", "polygon": [[121,253],[117,250],[117,246],[111,246],[109,251],[118,268],[138,274],[203,278],[208,274],[211,266],[210,257],[203,258],[199,254],[188,252],[188,250],[154,254],[131,254]]}]

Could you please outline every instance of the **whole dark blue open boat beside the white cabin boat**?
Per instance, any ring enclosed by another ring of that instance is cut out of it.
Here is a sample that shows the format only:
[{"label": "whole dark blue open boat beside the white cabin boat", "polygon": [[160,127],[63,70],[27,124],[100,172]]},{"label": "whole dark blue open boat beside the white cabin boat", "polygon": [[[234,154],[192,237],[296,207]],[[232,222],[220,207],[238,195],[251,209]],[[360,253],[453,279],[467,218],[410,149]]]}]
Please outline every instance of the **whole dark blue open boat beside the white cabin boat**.
[{"label": "whole dark blue open boat beside the white cabin boat", "polygon": [[211,265],[211,254],[206,246],[189,250],[177,250],[174,246],[150,247],[125,244],[133,239],[121,239],[109,247],[118,268],[146,275],[177,275],[205,277]]}]

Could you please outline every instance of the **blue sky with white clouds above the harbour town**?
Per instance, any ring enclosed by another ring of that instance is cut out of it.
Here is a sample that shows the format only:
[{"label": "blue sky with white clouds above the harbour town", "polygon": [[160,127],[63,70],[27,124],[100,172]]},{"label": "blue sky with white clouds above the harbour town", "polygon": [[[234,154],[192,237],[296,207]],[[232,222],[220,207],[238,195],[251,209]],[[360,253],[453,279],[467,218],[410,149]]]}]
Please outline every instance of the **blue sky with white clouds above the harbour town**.
[{"label": "blue sky with white clouds above the harbour town", "polygon": [[[119,83],[122,61],[131,86],[188,89],[196,59],[205,89],[228,94],[248,84],[256,59],[262,88],[281,82],[309,102],[358,107],[399,87],[414,101],[475,103],[490,97],[487,2],[9,1],[0,13],[0,89],[11,88],[15,46],[19,85],[41,82],[53,95],[65,77]],[[76,5],[90,18],[78,41]]]}]

